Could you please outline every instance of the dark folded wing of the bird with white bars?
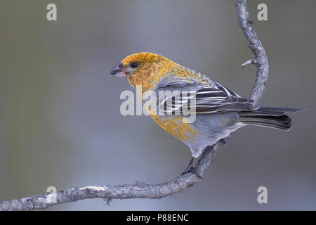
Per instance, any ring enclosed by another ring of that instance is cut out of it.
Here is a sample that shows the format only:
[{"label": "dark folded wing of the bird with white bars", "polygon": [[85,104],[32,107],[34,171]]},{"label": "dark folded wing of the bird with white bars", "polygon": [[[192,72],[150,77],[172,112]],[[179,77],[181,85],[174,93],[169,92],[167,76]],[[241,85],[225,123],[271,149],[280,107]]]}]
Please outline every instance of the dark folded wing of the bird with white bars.
[{"label": "dark folded wing of the bird with white bars", "polygon": [[[254,101],[242,98],[230,91],[225,86],[216,82],[212,87],[192,88],[192,84],[186,86],[164,86],[159,91],[157,105],[159,113],[164,115],[183,115],[185,112],[205,114],[228,111],[249,111],[254,108]],[[168,92],[169,91],[169,92]]]}]

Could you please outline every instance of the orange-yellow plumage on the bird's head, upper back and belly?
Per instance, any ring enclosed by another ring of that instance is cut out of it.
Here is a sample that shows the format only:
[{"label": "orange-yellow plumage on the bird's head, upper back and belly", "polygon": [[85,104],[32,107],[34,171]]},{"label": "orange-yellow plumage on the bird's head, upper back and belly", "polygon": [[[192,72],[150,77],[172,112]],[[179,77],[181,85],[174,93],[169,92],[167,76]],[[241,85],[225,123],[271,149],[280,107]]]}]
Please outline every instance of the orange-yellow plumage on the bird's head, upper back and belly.
[{"label": "orange-yellow plumage on the bird's head, upper back and belly", "polygon": [[[157,83],[167,75],[173,74],[184,80],[196,76],[193,70],[154,53],[143,52],[127,56],[121,61],[121,66],[122,68],[127,68],[131,63],[138,63],[139,65],[126,78],[131,86],[142,86],[142,93],[138,93],[140,95],[143,95],[145,91],[152,91]],[[203,82],[203,77],[198,76],[197,79],[201,79]],[[181,141],[193,141],[192,139],[198,135],[198,131],[193,129],[190,124],[183,123],[182,116],[166,119],[162,119],[159,115],[152,115],[151,113],[150,116],[160,127]]]}]

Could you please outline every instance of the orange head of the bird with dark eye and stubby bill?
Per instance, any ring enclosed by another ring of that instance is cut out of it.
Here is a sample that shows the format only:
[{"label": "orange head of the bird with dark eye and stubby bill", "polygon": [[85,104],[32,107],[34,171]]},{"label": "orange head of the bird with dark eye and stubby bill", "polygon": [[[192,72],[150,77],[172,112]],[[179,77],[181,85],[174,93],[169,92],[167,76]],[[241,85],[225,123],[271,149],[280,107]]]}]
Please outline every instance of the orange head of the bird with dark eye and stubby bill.
[{"label": "orange head of the bird with dark eye and stubby bill", "polygon": [[127,56],[111,70],[110,75],[126,77],[131,86],[141,85],[143,91],[152,90],[162,77],[176,65],[154,53],[141,52]]}]

